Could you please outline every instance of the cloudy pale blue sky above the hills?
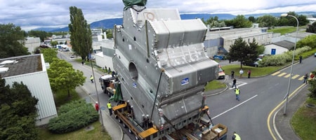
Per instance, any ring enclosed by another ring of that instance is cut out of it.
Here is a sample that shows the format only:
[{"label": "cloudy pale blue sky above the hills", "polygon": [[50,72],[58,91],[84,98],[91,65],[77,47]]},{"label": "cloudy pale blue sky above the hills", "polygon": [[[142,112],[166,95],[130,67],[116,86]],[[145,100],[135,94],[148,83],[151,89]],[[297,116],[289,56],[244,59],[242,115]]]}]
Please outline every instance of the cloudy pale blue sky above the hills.
[{"label": "cloudy pale blue sky above the hills", "polygon": [[[121,18],[121,0],[0,0],[0,24],[13,23],[29,31],[39,27],[67,27],[70,6],[80,8],[88,23]],[[177,8],[180,13],[316,12],[316,0],[147,0],[146,8]]]}]

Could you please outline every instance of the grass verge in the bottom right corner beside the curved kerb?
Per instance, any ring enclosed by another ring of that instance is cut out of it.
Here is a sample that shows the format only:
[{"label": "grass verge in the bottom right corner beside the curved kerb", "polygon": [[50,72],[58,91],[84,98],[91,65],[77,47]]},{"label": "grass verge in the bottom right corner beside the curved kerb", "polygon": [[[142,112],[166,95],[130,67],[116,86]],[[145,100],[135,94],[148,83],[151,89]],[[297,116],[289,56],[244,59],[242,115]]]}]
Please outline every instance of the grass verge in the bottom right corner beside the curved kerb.
[{"label": "grass verge in the bottom right corner beside the curved kerb", "polygon": [[[307,99],[305,104],[316,104],[316,99]],[[316,109],[302,106],[291,119],[291,125],[303,140],[316,138]]]}]

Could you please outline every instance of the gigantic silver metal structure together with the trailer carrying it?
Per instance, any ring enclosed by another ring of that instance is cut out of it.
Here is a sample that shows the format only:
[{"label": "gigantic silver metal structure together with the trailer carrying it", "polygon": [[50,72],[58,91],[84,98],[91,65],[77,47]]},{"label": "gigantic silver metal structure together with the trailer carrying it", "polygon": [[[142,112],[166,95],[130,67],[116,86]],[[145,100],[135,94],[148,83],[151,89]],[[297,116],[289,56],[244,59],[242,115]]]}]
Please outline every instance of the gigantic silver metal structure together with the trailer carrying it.
[{"label": "gigantic silver metal structure together with the trailer carrying it", "polygon": [[202,20],[136,3],[124,8],[123,25],[113,33],[119,121],[137,139],[168,139],[190,124],[198,126],[194,132],[202,128],[204,85],[218,78],[218,63],[205,54]]}]

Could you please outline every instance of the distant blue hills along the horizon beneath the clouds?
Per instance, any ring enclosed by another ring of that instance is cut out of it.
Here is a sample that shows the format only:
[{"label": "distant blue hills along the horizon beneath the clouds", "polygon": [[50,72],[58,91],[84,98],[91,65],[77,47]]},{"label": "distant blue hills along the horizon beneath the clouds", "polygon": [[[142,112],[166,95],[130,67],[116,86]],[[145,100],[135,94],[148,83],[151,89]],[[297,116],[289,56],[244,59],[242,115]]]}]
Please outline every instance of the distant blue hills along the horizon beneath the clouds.
[{"label": "distant blue hills along the horizon beneath the clouds", "polygon": [[[272,15],[275,17],[279,17],[282,13],[260,13],[260,14],[249,14],[244,15],[245,18],[253,16],[254,18],[258,18],[263,15]],[[297,13],[298,15],[315,15],[316,12],[301,12]],[[194,14],[180,14],[180,18],[182,20],[190,20],[195,18],[201,18],[204,20],[208,20],[210,17],[218,17],[218,20],[232,20],[235,18],[235,15],[231,14],[209,14],[209,13],[194,13]],[[123,19],[122,18],[112,18],[106,20],[100,20],[96,22],[92,22],[90,24],[91,29],[96,28],[103,28],[103,29],[112,29],[114,25],[122,25]],[[64,28],[38,28],[34,30],[41,30],[41,31],[48,31],[48,32],[55,32],[55,31],[69,31],[68,27]]]}]

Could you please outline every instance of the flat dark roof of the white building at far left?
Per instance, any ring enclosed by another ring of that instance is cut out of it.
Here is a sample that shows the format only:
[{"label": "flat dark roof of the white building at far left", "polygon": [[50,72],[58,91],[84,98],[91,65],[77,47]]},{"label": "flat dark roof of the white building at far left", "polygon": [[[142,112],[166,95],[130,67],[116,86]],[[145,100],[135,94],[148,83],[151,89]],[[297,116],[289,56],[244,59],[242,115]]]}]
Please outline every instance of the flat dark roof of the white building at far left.
[{"label": "flat dark roof of the white building at far left", "polygon": [[0,71],[2,78],[43,71],[40,54],[0,59],[0,67],[8,68]]}]

